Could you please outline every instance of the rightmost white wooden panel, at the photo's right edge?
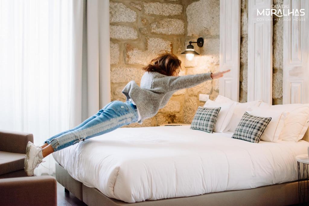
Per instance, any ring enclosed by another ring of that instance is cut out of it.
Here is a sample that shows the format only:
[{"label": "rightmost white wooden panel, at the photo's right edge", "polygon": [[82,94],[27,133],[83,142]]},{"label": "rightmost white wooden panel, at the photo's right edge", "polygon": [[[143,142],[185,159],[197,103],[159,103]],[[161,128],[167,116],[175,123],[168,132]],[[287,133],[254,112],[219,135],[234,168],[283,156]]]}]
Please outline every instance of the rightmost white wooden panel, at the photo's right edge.
[{"label": "rightmost white wooden panel, at the photo's right edge", "polygon": [[[305,9],[305,16],[288,16],[283,23],[283,104],[309,103],[309,1],[285,0],[290,10]],[[287,11],[285,11],[287,12]],[[304,18],[299,21],[294,18]]]}]

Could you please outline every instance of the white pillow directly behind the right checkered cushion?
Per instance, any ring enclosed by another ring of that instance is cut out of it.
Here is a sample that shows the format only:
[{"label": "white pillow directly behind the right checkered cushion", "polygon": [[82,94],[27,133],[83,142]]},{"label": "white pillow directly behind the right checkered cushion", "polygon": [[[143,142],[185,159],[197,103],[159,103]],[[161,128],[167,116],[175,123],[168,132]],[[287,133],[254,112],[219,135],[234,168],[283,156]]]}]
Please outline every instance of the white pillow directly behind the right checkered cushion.
[{"label": "white pillow directly behind the right checkered cushion", "polygon": [[252,111],[247,111],[249,114],[260,117],[271,117],[271,120],[265,128],[261,140],[268,142],[277,142],[279,135],[284,127],[286,113],[280,110],[272,110],[261,107],[249,107]]}]

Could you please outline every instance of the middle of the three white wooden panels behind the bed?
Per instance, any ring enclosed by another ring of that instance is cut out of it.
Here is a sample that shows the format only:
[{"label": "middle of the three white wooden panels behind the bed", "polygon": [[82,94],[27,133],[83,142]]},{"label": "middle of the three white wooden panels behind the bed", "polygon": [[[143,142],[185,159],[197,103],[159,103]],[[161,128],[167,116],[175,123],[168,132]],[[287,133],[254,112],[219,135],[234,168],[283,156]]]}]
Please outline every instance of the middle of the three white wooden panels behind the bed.
[{"label": "middle of the three white wooden panels behind the bed", "polygon": [[257,9],[271,9],[272,0],[248,0],[248,101],[272,104],[273,21],[257,16]]}]

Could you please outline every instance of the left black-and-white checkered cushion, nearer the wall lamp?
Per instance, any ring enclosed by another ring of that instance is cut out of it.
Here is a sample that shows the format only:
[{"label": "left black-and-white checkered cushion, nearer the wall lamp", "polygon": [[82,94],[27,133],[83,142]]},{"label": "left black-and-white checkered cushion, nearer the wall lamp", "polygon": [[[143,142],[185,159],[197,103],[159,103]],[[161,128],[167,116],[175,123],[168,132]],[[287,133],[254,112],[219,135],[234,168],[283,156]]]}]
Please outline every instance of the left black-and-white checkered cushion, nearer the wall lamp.
[{"label": "left black-and-white checkered cushion, nearer the wall lamp", "polygon": [[199,129],[212,133],[221,107],[198,107],[190,129]]}]

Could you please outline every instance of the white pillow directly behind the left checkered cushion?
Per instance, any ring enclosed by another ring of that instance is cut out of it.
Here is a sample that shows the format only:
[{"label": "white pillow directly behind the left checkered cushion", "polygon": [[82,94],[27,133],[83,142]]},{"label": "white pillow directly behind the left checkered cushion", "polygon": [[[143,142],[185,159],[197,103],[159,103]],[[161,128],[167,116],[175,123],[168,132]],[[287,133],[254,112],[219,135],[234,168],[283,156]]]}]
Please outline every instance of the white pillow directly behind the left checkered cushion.
[{"label": "white pillow directly behind the left checkered cushion", "polygon": [[217,121],[214,125],[214,132],[224,132],[229,124],[235,108],[235,103],[217,103],[210,99],[207,100],[204,107],[221,107]]}]

